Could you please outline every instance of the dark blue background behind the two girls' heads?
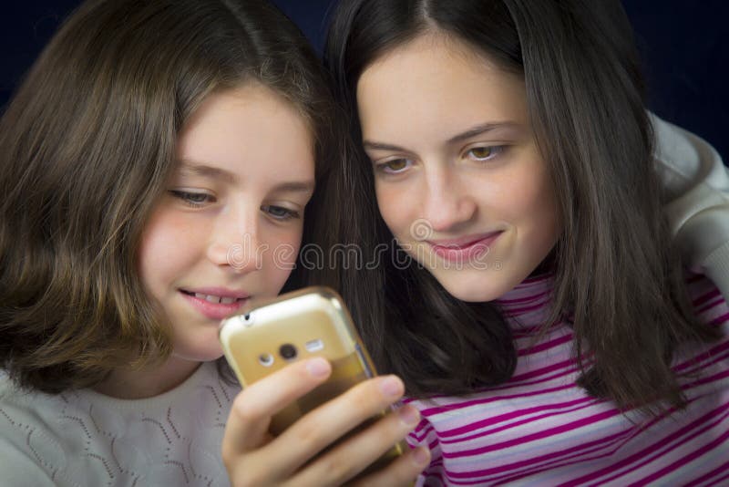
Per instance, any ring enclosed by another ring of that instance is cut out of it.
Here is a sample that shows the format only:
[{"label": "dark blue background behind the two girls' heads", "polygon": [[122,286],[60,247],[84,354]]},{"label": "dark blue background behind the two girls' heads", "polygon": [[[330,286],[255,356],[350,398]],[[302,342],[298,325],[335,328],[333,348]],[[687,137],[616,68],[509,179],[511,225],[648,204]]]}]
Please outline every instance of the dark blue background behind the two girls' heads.
[{"label": "dark blue background behind the two girls' heads", "polygon": [[[601,1],[601,0],[593,0]],[[321,51],[335,0],[273,0]],[[0,107],[78,0],[27,0],[2,8]],[[13,5],[15,4],[15,5]],[[650,108],[709,140],[729,159],[729,2],[623,0],[641,48]]]}]

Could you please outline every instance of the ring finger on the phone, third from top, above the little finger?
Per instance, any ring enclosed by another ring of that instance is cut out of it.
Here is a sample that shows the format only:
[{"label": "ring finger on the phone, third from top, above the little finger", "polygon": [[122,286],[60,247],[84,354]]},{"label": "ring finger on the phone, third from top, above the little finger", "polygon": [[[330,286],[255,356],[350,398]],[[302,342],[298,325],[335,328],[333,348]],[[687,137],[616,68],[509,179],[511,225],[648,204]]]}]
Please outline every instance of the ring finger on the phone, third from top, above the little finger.
[{"label": "ring finger on the phone, third from top, above the little finger", "polygon": [[[420,422],[413,406],[403,406],[378,420],[372,426],[344,440],[331,451],[323,453],[293,479],[293,485],[339,485],[354,478],[377,461]],[[399,470],[404,467],[398,463]],[[412,469],[410,469],[412,470]],[[409,474],[409,471],[405,471]],[[412,481],[412,477],[407,477]]]}]

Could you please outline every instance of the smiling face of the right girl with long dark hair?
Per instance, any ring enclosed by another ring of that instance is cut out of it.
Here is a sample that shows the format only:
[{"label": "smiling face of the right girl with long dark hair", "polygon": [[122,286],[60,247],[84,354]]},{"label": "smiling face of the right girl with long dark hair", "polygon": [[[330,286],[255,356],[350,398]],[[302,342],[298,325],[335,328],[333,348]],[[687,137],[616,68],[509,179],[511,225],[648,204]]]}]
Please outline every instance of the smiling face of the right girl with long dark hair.
[{"label": "smiling face of the right girl with long dark hair", "polygon": [[398,244],[464,301],[497,299],[533,272],[560,225],[524,81],[426,35],[367,67],[356,94]]}]

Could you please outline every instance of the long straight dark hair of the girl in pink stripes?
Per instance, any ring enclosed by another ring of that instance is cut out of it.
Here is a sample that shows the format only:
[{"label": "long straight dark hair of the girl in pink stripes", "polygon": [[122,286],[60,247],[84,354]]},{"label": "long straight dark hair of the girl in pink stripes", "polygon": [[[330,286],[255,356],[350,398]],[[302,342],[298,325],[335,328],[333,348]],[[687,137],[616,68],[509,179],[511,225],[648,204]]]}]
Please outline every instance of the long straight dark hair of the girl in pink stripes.
[{"label": "long straight dark hair of the girl in pink stripes", "polygon": [[[693,316],[664,221],[639,60],[620,2],[343,0],[325,63],[354,138],[361,140],[360,75],[423,33],[465,42],[526,82],[564,228],[550,255],[556,288],[545,325],[573,316],[580,385],[623,408],[681,405],[673,352],[716,334]],[[356,196],[354,209],[362,207],[349,229],[357,236],[348,238],[391,242],[365,161],[359,150],[341,181]],[[344,283],[375,361],[403,377],[411,395],[465,394],[513,373],[516,352],[497,306],[459,302],[425,270],[386,260]]]}]

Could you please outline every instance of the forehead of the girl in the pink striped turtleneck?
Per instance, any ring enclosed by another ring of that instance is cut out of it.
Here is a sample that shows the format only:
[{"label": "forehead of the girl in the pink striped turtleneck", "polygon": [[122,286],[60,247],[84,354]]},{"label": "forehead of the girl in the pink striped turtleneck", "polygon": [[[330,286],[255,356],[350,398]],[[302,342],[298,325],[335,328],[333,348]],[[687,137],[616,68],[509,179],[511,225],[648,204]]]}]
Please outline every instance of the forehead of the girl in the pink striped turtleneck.
[{"label": "forehead of the girl in the pink striped turtleneck", "polygon": [[418,36],[377,58],[357,83],[357,102],[367,132],[389,132],[403,118],[441,125],[528,121],[523,79],[443,35]]}]

